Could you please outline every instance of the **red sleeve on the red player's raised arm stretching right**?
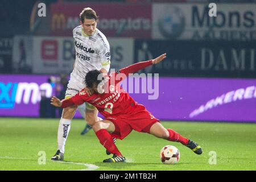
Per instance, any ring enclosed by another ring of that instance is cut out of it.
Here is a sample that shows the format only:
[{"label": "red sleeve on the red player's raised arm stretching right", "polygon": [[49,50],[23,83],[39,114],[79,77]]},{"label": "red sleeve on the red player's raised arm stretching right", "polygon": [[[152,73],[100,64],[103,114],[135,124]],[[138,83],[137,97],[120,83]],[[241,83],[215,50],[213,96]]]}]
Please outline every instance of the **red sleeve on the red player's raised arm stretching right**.
[{"label": "red sleeve on the red player's raised arm stretching right", "polygon": [[[141,69],[144,69],[144,68],[152,65],[152,61],[153,60],[148,60],[148,61],[142,61],[142,62],[139,62],[139,63],[132,64],[132,65],[130,65],[128,67],[120,69],[119,71],[110,73],[109,76],[116,78],[115,84],[118,84],[118,82],[121,82],[123,80],[123,77],[121,77],[122,79],[121,78],[117,78],[116,77],[117,73],[123,73],[127,77],[129,75],[129,73],[137,72],[137,71],[139,71]],[[111,81],[111,79],[110,79],[110,81]]]}]

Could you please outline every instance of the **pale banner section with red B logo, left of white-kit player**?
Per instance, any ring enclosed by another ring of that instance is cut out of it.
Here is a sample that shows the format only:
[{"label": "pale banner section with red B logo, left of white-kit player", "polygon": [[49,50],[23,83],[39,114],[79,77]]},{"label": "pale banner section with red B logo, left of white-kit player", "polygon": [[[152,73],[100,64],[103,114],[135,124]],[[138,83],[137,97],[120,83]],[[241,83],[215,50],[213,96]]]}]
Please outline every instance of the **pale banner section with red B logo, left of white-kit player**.
[{"label": "pale banner section with red B logo, left of white-kit player", "polygon": [[34,36],[33,73],[71,73],[75,61],[73,38]]}]

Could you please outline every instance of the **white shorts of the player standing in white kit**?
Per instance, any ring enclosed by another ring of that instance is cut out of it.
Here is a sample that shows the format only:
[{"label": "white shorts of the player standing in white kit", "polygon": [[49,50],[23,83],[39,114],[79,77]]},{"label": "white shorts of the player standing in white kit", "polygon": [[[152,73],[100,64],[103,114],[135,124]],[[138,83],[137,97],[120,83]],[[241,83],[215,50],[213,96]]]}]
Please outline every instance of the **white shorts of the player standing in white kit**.
[{"label": "white shorts of the player standing in white kit", "polygon": [[[71,73],[70,79],[68,81],[67,90],[65,93],[65,99],[75,96],[75,94],[79,93],[80,90],[82,90],[85,87],[86,85],[84,80],[79,76],[76,76],[74,73]],[[96,109],[96,107],[94,107],[93,105],[87,102],[85,102],[85,105],[86,105],[86,109],[89,109],[89,110]]]}]

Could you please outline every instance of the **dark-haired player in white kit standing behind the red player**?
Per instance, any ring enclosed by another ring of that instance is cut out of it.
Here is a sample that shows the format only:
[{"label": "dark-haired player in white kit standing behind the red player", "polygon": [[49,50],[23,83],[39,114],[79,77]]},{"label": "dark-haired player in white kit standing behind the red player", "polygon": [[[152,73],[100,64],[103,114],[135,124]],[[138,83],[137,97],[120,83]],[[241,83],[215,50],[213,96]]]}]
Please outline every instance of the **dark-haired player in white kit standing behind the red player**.
[{"label": "dark-haired player in white kit standing behind the red player", "polygon": [[[93,69],[108,73],[110,68],[109,42],[106,36],[96,28],[98,22],[96,12],[90,7],[86,7],[80,13],[80,20],[81,25],[73,30],[76,60],[68,82],[65,98],[75,96],[76,93],[79,93],[80,90],[86,87],[84,81],[86,73]],[[58,150],[51,158],[52,160],[64,159],[65,143],[76,109],[77,106],[69,106],[63,109],[57,133]],[[101,118],[97,117],[98,110],[96,107],[88,103],[86,103],[86,113],[82,112],[80,110],[80,113],[85,117],[90,126],[101,120]]]}]

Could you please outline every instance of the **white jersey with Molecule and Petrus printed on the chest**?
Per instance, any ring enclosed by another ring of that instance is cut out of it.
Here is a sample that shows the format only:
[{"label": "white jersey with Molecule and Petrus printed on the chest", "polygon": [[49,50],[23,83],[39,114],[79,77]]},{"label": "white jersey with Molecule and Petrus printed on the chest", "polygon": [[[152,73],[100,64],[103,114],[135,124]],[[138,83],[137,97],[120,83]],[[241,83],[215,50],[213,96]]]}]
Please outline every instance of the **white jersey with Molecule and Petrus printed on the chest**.
[{"label": "white jersey with Molecule and Petrus printed on the chest", "polygon": [[86,36],[82,26],[73,30],[75,39],[76,61],[72,76],[84,81],[86,73],[94,69],[110,68],[110,47],[106,36],[96,28],[92,36]]}]

